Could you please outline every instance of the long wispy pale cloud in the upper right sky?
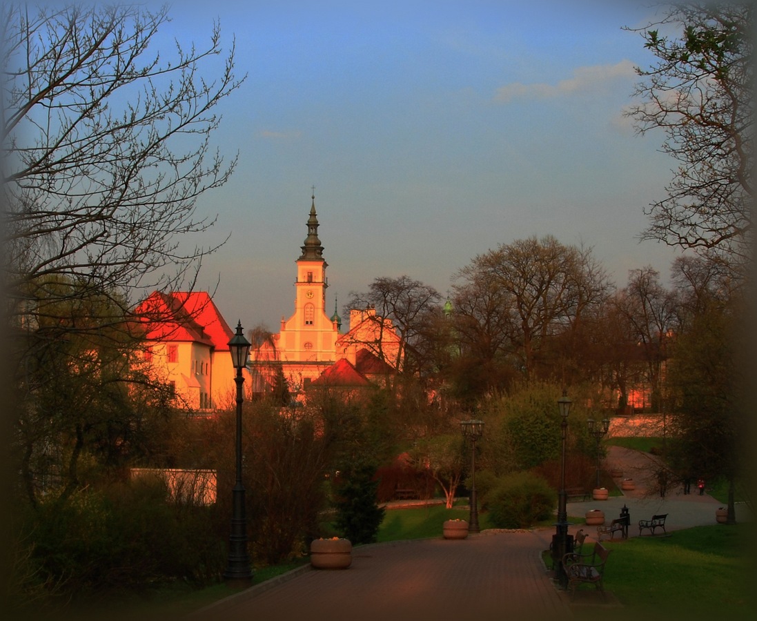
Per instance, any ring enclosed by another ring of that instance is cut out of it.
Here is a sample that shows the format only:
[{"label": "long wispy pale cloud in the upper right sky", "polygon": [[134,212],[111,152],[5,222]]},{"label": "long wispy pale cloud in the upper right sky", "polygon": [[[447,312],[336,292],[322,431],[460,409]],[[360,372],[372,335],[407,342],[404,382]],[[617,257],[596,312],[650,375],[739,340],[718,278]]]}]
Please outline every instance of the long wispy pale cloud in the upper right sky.
[{"label": "long wispy pale cloud in the upper right sky", "polygon": [[609,80],[635,75],[634,64],[631,61],[620,61],[618,64],[600,64],[594,67],[578,67],[573,71],[571,78],[560,80],[556,84],[514,82],[500,86],[497,89],[497,94],[494,95],[494,101],[508,103],[516,98],[545,99],[571,95],[575,92],[591,92]]}]

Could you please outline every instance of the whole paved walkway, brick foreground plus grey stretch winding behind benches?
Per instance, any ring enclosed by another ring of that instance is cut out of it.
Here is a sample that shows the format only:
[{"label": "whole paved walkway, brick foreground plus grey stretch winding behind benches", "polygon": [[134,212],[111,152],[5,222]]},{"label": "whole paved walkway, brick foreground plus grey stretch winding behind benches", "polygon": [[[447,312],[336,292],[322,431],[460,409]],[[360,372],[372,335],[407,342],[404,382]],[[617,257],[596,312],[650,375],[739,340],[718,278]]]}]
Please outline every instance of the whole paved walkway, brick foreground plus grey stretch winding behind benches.
[{"label": "whole paved walkway, brick foreground plus grey stretch winding behind benches", "polygon": [[[637,490],[608,501],[569,503],[569,516],[601,508],[609,523],[625,504],[632,525],[653,513],[669,513],[665,524],[669,531],[715,523],[718,501],[697,495],[696,489],[686,496],[676,490],[665,498],[647,495],[644,485],[654,464],[643,454],[613,447],[609,460],[622,465],[624,476],[637,480]],[[590,537],[596,535],[583,523],[573,524],[569,532],[580,528],[587,529]],[[551,571],[541,561],[553,532],[484,531],[464,540],[440,537],[360,546],[354,548],[348,570],[304,566],[207,607],[195,618],[486,621],[502,619],[504,611],[510,619],[571,618],[569,599],[555,587]],[[631,526],[629,534],[637,536],[638,530]]]}]

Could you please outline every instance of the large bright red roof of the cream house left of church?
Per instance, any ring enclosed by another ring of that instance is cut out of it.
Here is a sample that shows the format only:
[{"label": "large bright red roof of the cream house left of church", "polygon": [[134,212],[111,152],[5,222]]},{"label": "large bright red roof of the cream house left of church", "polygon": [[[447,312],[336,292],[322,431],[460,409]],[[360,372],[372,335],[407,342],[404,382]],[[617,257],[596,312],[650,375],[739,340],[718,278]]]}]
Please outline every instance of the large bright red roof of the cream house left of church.
[{"label": "large bright red roof of the cream house left of church", "polygon": [[228,351],[234,335],[207,292],[153,292],[137,314],[148,341],[188,341]]}]

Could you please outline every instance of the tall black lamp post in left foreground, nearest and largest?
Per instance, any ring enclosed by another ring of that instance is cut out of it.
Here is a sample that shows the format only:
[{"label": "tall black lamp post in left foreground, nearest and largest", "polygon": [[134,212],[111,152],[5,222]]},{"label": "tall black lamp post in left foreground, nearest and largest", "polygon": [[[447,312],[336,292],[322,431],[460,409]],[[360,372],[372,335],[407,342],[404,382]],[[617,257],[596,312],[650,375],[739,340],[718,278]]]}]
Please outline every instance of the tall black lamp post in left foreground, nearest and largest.
[{"label": "tall black lamp post in left foreground, nearest and largest", "polygon": [[223,573],[227,582],[245,585],[252,580],[250,557],[247,553],[247,518],[245,517],[245,487],[241,484],[241,404],[244,401],[241,386],[245,378],[241,370],[247,367],[251,343],[242,334],[241,321],[237,323],[237,331],[229,341],[232,354],[232,364],[237,370],[234,381],[237,385],[237,435],[236,435],[236,484],[232,492],[232,532],[229,537],[229,564]]}]

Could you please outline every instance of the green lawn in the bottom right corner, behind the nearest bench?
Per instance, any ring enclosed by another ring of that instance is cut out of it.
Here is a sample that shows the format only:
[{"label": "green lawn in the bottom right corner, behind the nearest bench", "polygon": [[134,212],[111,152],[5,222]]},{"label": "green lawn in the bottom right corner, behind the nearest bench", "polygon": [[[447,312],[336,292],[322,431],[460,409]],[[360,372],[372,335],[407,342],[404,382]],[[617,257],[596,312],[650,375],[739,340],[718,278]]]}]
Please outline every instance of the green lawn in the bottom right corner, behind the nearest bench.
[{"label": "green lawn in the bottom right corner, behind the nearest bench", "polygon": [[[745,551],[752,529],[749,523],[697,526],[669,537],[603,541],[612,551],[605,588],[625,606],[612,618],[753,618],[755,566]],[[584,545],[584,552],[589,549]],[[606,619],[607,611],[581,610],[577,616]]]}]

